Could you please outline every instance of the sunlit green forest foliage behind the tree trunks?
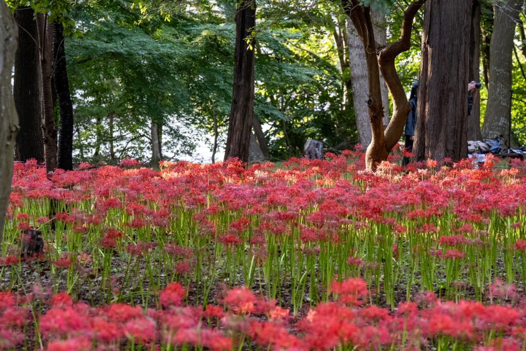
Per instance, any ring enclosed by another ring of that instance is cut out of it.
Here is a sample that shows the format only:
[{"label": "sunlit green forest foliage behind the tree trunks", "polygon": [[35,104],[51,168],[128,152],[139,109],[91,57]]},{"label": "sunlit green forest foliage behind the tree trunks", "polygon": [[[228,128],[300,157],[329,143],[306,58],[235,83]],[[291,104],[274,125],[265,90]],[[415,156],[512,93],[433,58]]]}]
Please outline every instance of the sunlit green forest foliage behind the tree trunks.
[{"label": "sunlit green forest foliage behind the tree trunks", "polygon": [[[480,1],[481,120],[494,5]],[[395,2],[379,9],[377,25],[387,42],[400,33],[400,6]],[[99,0],[68,7],[60,25],[73,102],[74,162],[113,164],[126,156],[154,164],[158,159],[222,159],[218,153],[225,146],[232,102],[236,7],[229,0],[189,5]],[[308,138],[335,151],[363,143],[352,100],[348,44],[353,28],[341,4],[266,0],[258,2],[256,14],[254,38],[247,39],[256,53],[254,137],[266,158],[301,155]],[[422,23],[420,12],[410,50],[397,57],[408,93],[419,77]],[[512,135],[524,145],[522,25],[516,32]],[[203,147],[212,159],[200,155]]]}]

